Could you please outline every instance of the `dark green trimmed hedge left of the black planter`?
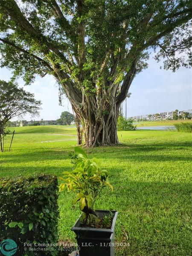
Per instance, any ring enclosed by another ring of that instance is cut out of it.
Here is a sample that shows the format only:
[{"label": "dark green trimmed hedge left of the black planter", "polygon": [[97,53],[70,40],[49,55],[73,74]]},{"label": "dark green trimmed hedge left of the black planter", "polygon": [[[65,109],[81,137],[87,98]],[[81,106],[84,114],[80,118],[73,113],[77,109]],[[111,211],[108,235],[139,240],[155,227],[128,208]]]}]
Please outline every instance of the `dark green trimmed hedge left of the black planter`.
[{"label": "dark green trimmed hedge left of the black planter", "polygon": [[23,246],[57,243],[57,199],[55,176],[0,179],[0,240],[13,239],[18,247],[15,255],[57,255],[56,250],[24,251]]}]

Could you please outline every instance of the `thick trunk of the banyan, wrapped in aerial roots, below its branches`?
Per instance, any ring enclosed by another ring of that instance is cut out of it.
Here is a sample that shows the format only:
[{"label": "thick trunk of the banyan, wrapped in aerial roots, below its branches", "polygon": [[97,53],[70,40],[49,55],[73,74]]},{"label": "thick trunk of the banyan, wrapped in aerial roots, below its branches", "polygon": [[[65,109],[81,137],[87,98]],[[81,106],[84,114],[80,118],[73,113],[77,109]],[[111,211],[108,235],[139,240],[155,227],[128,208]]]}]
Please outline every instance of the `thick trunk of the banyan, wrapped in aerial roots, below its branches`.
[{"label": "thick trunk of the banyan, wrapped in aerial roots, below its branches", "polygon": [[82,135],[86,147],[119,143],[116,129],[119,107],[115,104],[108,105],[108,108],[102,106],[100,114],[99,108],[94,109],[90,102],[81,109],[73,108],[73,111],[76,115],[78,145],[82,143]]}]

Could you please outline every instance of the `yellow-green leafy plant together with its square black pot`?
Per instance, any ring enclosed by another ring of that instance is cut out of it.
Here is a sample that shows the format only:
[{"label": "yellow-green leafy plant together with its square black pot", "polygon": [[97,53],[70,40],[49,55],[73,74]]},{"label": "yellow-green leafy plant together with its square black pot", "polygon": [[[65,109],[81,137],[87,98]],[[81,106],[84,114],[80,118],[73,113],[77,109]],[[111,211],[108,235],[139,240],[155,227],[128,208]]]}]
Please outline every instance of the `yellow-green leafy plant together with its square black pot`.
[{"label": "yellow-green leafy plant together with its square black pot", "polygon": [[114,256],[115,223],[117,212],[109,210],[94,210],[96,199],[103,188],[113,186],[108,181],[109,173],[102,169],[99,160],[88,159],[87,154],[79,147],[71,155],[74,168],[64,172],[59,191],[75,191],[73,204],[79,202],[80,217],[72,230],[76,233],[79,256]]}]

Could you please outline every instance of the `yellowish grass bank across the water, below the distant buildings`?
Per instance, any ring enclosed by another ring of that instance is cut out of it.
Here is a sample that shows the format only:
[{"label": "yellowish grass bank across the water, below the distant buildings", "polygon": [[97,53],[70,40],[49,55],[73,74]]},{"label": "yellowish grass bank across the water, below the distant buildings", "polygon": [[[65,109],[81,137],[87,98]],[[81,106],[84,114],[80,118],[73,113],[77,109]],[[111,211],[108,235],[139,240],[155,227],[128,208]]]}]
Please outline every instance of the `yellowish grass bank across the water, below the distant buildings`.
[{"label": "yellowish grass bank across the water, below the distant buildings", "polygon": [[140,126],[168,126],[173,125],[181,122],[192,122],[191,119],[187,120],[163,120],[163,121],[144,121],[144,122],[137,122],[137,127]]}]

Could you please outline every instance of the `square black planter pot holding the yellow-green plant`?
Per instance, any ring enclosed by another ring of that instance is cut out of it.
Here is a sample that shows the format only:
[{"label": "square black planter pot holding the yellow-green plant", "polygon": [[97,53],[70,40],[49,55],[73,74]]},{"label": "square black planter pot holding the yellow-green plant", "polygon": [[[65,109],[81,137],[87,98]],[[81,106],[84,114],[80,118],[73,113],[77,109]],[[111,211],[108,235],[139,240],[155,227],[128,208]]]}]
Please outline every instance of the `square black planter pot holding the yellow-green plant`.
[{"label": "square black planter pot holding the yellow-green plant", "polygon": [[[110,211],[96,210],[99,218],[108,215]],[[111,229],[81,227],[80,218],[72,227],[76,233],[79,256],[115,256],[115,223],[118,212],[112,211],[113,222]]]}]

